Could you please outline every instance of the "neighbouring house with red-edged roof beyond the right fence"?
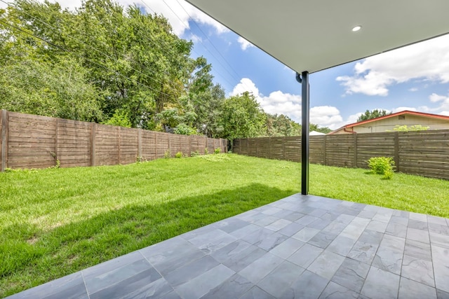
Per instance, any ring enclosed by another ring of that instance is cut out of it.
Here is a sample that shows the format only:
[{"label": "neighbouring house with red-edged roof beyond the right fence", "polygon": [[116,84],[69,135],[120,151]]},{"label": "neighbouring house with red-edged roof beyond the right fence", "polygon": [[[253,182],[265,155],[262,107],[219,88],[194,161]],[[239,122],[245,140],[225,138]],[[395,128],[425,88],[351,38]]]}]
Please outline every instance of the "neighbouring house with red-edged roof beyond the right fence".
[{"label": "neighbouring house with red-edged roof beyond the right fence", "polygon": [[358,123],[344,125],[329,134],[354,134],[354,133],[378,133],[393,131],[396,126],[422,125],[429,127],[429,130],[449,130],[449,116],[437,114],[401,111],[387,116],[380,116],[370,120],[363,120]]}]

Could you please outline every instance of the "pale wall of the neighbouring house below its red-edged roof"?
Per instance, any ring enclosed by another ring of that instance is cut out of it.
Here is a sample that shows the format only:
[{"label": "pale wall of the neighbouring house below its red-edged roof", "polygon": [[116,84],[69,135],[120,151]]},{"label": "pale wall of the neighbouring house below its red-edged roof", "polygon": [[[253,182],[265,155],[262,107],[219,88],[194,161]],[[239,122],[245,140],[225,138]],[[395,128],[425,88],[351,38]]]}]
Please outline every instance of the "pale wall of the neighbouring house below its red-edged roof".
[{"label": "pale wall of the neighbouring house below its red-edged roof", "polygon": [[[354,126],[354,132],[357,133],[379,133],[393,131],[396,125],[422,125],[423,127],[429,127],[429,130],[449,130],[449,120],[443,120],[438,118],[427,118],[424,116],[413,116],[413,115],[401,115],[393,116],[391,118],[384,118],[382,120],[376,120],[370,123],[365,123],[362,125]],[[351,131],[351,128],[347,128]],[[339,130],[334,134],[351,134],[349,132],[344,132],[344,130]]]}]

